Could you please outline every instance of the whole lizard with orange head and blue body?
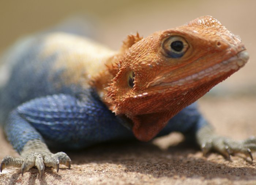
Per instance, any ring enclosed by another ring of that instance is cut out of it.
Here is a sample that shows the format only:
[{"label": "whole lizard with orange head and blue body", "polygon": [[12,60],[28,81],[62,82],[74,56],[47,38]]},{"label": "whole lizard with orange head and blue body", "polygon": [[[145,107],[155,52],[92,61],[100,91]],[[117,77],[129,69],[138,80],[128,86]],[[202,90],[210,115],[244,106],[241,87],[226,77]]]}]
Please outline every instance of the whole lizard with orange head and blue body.
[{"label": "whole lizard with orange head and blue body", "polygon": [[150,141],[178,131],[203,154],[252,158],[256,137],[235,141],[214,132],[196,101],[243,67],[249,54],[240,37],[212,16],[157,31],[128,35],[118,51],[67,33],[29,37],[5,63],[0,121],[20,158],[5,156],[0,171],[15,166],[71,167],[64,152],[111,140]]}]

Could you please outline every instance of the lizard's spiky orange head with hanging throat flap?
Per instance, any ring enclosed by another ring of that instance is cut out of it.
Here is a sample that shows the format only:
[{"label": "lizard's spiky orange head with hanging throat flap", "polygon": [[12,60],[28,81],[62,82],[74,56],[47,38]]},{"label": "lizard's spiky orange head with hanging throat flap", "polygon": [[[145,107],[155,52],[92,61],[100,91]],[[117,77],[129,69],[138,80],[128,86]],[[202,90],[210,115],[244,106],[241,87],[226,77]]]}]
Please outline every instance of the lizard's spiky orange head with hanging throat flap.
[{"label": "lizard's spiky orange head with hanging throat flap", "polygon": [[135,40],[117,64],[107,96],[112,111],[131,119],[143,141],[249,58],[241,39],[211,16]]}]

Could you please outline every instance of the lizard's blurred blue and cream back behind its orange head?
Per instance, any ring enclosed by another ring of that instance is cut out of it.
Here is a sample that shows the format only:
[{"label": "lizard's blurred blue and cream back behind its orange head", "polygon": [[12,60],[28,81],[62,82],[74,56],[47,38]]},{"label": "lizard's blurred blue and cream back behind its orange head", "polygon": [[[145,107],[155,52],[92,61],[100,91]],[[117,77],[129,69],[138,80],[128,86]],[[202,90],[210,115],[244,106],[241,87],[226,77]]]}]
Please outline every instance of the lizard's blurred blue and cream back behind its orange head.
[{"label": "lizard's blurred blue and cream back behind its orange head", "polygon": [[[5,82],[0,88],[0,120],[30,99],[89,89],[94,74],[105,68],[113,51],[89,39],[65,33],[28,37],[3,57]],[[5,77],[6,78],[6,77]]]}]

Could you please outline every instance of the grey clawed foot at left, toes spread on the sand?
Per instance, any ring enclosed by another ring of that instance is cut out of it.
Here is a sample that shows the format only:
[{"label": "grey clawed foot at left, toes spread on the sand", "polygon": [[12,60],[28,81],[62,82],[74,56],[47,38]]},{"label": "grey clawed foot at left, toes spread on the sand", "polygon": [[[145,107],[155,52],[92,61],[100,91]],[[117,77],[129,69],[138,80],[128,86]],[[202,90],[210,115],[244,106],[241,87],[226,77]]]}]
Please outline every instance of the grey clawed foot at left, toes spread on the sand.
[{"label": "grey clawed foot at left, toes spread on the sand", "polygon": [[11,156],[5,156],[1,161],[0,171],[9,166],[21,167],[21,173],[25,173],[31,167],[36,166],[40,177],[44,174],[45,166],[54,167],[57,172],[59,171],[59,165],[65,165],[70,169],[71,160],[64,152],[58,152],[52,154],[50,152],[31,152],[22,156],[22,158],[13,158]]}]

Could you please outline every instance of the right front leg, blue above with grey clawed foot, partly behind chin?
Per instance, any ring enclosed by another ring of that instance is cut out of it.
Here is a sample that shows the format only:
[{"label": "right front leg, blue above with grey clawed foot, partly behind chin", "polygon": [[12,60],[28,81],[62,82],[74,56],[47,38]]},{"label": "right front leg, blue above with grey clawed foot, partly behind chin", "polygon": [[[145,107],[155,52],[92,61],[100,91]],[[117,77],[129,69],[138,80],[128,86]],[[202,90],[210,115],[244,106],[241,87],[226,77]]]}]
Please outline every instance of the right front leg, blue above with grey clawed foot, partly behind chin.
[{"label": "right front leg, blue above with grey clawed foot, partly behind chin", "polygon": [[[204,119],[193,103],[185,107],[181,112],[169,120],[160,135],[178,131],[187,137],[188,141],[195,141],[205,155],[210,150],[215,150],[230,159],[231,154],[243,153],[252,158],[252,151],[256,151],[256,137],[250,137],[243,141],[219,136],[211,125]],[[192,139],[191,139],[192,138]]]}]

